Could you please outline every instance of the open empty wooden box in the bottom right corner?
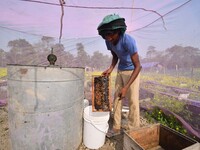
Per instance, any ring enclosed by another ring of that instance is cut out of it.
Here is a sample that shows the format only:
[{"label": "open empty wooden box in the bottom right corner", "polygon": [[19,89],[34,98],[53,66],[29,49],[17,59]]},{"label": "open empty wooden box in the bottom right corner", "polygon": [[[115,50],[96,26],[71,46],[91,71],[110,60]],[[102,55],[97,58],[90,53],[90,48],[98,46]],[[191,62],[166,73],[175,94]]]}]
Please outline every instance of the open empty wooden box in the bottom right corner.
[{"label": "open empty wooden box in the bottom right corner", "polygon": [[124,133],[123,150],[200,150],[197,141],[155,124]]}]

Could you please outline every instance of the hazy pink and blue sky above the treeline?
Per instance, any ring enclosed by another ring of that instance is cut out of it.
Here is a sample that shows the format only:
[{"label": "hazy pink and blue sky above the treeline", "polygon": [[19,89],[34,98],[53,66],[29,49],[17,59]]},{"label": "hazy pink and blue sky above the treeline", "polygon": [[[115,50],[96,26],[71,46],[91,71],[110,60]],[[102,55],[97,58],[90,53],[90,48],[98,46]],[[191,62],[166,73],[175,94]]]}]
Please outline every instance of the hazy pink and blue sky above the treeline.
[{"label": "hazy pink and blue sky above the treeline", "polygon": [[8,41],[19,38],[34,44],[50,36],[59,42],[62,33],[67,51],[75,52],[81,42],[89,53],[110,54],[97,26],[113,13],[125,18],[126,32],[143,57],[149,46],[159,51],[174,45],[200,48],[199,0],[67,0],[63,13],[61,30],[59,0],[1,0],[0,48],[8,51]]}]

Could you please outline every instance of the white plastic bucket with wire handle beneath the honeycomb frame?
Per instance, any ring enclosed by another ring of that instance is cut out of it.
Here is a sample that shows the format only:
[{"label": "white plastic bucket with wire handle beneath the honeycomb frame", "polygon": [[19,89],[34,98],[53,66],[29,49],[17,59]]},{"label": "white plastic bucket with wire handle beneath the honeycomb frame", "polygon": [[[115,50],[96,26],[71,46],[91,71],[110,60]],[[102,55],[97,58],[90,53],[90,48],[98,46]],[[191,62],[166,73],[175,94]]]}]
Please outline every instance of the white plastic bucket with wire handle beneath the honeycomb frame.
[{"label": "white plastic bucket with wire handle beneath the honeycomb frame", "polygon": [[92,106],[84,109],[83,144],[89,149],[98,149],[105,143],[110,112],[92,112]]}]

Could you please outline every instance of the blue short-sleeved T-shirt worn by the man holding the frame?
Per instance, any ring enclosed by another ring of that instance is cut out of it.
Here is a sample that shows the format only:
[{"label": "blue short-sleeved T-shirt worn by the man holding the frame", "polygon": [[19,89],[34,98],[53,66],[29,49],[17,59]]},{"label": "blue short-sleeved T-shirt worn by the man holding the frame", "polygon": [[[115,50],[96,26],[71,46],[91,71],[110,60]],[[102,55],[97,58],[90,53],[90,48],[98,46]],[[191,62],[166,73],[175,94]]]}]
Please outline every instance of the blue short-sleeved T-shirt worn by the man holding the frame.
[{"label": "blue short-sleeved T-shirt worn by the man holding the frame", "polygon": [[108,50],[113,51],[119,58],[118,70],[134,70],[131,56],[138,50],[135,40],[130,35],[121,35],[116,45],[106,41],[106,46]]}]

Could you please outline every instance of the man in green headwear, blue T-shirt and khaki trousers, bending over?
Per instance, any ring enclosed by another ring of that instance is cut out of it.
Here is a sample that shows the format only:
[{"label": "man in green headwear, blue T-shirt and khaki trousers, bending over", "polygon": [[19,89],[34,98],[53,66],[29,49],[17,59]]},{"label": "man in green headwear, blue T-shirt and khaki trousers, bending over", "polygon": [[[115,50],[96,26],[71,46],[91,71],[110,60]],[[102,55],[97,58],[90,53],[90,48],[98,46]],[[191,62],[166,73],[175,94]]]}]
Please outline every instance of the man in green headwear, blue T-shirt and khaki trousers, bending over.
[{"label": "man in green headwear, blue T-shirt and khaki trousers, bending over", "polygon": [[114,122],[113,128],[107,133],[107,136],[111,137],[120,133],[124,98],[127,98],[129,103],[127,129],[131,130],[140,126],[139,74],[141,64],[135,40],[125,33],[124,18],[116,14],[107,15],[97,30],[99,35],[105,39],[107,49],[113,56],[110,67],[102,74],[109,76],[118,63],[113,105]]}]

